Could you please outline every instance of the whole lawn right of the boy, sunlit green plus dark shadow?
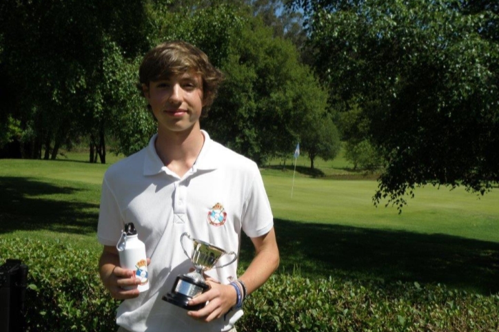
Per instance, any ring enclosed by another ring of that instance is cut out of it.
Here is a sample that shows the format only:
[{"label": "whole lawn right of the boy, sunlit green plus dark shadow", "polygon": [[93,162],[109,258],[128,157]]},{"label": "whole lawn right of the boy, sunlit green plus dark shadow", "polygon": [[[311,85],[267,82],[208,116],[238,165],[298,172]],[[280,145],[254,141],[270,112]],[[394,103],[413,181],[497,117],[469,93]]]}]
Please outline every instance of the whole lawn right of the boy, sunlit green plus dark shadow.
[{"label": "whole lawn right of the boy, sunlit green plus dark shadow", "polygon": [[374,207],[375,181],[287,174],[264,175],[284,271],[499,291],[498,191],[422,187],[398,214]]}]

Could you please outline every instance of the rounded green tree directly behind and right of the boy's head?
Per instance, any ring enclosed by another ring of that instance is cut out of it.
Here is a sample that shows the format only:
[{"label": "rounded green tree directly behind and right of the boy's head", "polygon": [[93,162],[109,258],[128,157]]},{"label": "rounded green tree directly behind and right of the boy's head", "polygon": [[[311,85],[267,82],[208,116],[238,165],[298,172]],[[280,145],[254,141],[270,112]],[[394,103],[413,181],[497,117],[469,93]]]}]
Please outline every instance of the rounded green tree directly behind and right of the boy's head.
[{"label": "rounded green tree directly behind and right of the boy's head", "polygon": [[160,35],[194,43],[225,72],[202,125],[216,141],[258,164],[289,154],[305,114],[325,112],[327,94],[299,63],[294,45],[274,37],[247,8],[222,3],[187,17],[165,13],[154,25]]}]

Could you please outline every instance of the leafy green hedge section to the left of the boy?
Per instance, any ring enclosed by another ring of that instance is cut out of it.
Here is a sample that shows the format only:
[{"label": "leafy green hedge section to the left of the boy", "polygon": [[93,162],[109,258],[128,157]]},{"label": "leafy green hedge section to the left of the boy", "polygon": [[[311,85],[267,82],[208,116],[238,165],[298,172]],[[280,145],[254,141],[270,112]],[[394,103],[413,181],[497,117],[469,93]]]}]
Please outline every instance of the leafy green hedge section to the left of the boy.
[{"label": "leafy green hedge section to the left of the boy", "polygon": [[59,241],[0,239],[0,263],[28,265],[26,332],[116,331],[118,302],[99,279],[100,252],[76,250]]}]

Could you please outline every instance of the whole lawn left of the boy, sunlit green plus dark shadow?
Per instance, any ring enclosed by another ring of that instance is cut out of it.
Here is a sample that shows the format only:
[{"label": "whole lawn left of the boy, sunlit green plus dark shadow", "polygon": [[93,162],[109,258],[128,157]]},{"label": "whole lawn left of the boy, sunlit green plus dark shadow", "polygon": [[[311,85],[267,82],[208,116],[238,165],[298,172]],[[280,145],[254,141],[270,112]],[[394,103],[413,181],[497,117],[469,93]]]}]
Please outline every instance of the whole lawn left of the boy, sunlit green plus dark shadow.
[{"label": "whole lawn left of the boy, sunlit green plus dark shadow", "polygon": [[69,160],[0,160],[0,234],[82,247],[96,243],[101,183],[108,167]]}]

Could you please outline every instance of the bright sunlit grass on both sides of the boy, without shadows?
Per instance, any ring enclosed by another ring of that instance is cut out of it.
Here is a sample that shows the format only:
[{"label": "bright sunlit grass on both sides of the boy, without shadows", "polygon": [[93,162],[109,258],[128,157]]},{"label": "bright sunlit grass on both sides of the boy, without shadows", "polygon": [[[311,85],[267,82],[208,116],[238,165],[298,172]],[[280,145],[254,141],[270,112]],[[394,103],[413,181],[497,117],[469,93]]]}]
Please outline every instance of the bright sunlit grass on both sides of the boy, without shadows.
[{"label": "bright sunlit grass on both sides of the boy, without shadows", "polygon": [[[85,190],[76,197],[57,199],[93,202],[98,207],[100,185],[108,167],[81,161],[0,160],[0,176],[55,181],[61,187],[79,187],[81,185],[74,183],[82,183]],[[416,197],[409,199],[403,213],[398,214],[395,207],[374,207],[371,201],[377,187],[374,180],[321,180],[296,176],[293,186],[292,172],[263,169],[262,174],[275,218],[499,242],[497,190],[478,197],[464,188],[449,191],[445,187],[422,187],[416,189]],[[92,189],[88,189],[89,185]],[[95,210],[94,214],[97,212]]]}]

